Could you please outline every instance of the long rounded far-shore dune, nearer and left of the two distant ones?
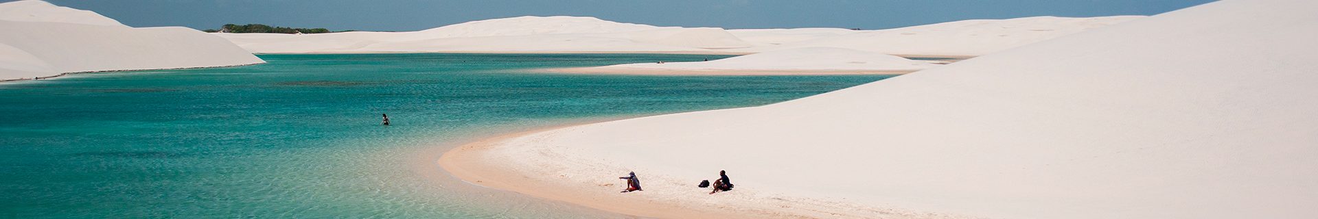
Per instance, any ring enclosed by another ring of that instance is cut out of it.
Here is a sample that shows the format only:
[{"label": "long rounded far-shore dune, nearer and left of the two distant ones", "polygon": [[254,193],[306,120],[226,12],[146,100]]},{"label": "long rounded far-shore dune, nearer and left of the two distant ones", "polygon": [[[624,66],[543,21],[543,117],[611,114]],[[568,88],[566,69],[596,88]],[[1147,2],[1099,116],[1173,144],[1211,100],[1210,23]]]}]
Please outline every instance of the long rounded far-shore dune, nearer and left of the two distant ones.
[{"label": "long rounded far-shore dune, nearer and left of the two distant ones", "polygon": [[692,52],[742,49],[718,28],[659,28],[594,17],[511,17],[420,31],[217,34],[252,52]]}]

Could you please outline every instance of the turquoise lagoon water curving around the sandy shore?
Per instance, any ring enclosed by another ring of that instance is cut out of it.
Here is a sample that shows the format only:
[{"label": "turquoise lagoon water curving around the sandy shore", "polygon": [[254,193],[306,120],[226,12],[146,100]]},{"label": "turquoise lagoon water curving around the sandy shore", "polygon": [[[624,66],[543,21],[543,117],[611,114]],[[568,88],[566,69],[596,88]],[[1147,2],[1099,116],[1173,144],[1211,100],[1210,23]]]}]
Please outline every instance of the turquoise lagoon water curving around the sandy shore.
[{"label": "turquoise lagoon water curving around the sandy shore", "polygon": [[436,182],[409,159],[498,131],[757,106],[890,77],[530,71],[720,55],[261,58],[0,84],[0,218],[617,216]]}]

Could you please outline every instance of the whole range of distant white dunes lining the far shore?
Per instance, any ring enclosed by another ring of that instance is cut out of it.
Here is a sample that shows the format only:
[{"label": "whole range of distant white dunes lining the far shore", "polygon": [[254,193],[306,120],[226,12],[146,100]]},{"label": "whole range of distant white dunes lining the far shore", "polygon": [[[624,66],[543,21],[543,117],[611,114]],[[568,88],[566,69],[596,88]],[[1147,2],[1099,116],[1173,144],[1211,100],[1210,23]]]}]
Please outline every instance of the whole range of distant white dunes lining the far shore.
[{"label": "whole range of distant white dunes lining the far shore", "polygon": [[[683,52],[755,54],[842,47],[883,54],[982,55],[1143,16],[971,20],[891,30],[724,30],[623,24],[594,17],[511,17],[420,31],[217,34],[252,52]],[[915,34],[915,35],[912,35]],[[830,43],[837,42],[837,43]]]}]

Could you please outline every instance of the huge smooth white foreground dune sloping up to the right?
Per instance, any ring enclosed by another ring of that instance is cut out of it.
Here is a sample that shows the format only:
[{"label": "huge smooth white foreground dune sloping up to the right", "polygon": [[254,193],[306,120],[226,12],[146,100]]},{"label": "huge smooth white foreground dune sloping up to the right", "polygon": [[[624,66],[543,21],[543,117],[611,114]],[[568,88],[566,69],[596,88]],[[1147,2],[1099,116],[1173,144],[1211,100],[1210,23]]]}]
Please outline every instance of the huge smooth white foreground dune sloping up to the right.
[{"label": "huge smooth white foreground dune sloping up to the right", "polygon": [[[497,188],[594,195],[580,201],[588,206],[1313,218],[1315,21],[1318,1],[1217,1],[801,100],[556,129],[449,153],[507,170],[477,174],[518,177]],[[737,190],[693,186],[720,169]],[[629,170],[646,191],[617,194],[616,177]],[[816,202],[854,206],[805,205]]]}]

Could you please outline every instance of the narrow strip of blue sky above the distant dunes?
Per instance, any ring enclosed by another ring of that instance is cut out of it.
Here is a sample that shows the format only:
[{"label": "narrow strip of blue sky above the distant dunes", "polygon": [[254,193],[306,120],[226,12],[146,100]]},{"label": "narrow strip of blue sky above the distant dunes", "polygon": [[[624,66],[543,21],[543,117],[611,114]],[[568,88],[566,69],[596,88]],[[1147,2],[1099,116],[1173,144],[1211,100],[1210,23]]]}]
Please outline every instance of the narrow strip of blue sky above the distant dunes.
[{"label": "narrow strip of blue sky above the distant dunes", "polygon": [[[11,0],[0,0],[11,1]],[[592,16],[660,26],[887,29],[967,18],[1157,14],[1211,0],[49,0],[129,26],[268,24],[422,30],[515,16]]]}]

